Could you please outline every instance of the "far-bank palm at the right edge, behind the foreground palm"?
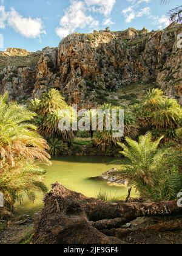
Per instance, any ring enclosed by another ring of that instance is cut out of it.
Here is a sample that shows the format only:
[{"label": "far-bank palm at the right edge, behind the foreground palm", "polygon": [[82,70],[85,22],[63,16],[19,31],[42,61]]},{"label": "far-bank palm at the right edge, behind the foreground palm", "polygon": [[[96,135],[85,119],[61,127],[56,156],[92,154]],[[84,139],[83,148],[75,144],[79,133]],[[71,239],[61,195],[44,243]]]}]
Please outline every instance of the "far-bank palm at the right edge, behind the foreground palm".
[{"label": "far-bank palm at the right edge, behind the foreground palm", "polygon": [[159,89],[149,90],[144,102],[134,105],[133,113],[141,126],[148,127],[154,135],[165,135],[165,140],[175,138],[175,129],[181,127],[182,108],[175,99],[164,96]]}]

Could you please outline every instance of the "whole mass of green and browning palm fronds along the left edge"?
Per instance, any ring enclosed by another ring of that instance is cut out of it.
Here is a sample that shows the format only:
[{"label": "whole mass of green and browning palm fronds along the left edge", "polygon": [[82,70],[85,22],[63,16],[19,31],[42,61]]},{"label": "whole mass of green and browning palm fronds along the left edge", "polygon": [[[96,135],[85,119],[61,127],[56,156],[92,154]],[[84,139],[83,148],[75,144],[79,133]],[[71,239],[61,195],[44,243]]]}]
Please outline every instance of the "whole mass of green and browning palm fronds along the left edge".
[{"label": "whole mass of green and browning palm fronds along the left edge", "polygon": [[0,191],[5,206],[12,210],[21,194],[35,199],[35,191],[47,191],[39,163],[50,164],[49,146],[31,122],[35,113],[0,98]]}]

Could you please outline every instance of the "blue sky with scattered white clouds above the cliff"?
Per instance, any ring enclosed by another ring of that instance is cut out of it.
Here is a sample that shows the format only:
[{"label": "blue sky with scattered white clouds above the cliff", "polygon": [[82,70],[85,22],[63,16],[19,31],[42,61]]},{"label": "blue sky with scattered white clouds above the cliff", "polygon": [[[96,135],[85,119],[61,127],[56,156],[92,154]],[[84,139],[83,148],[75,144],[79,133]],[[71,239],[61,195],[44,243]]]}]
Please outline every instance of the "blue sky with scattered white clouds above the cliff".
[{"label": "blue sky with scattered white clouds above the cliff", "polygon": [[148,30],[169,25],[167,12],[181,0],[0,0],[0,50],[56,47],[73,32],[110,27]]}]

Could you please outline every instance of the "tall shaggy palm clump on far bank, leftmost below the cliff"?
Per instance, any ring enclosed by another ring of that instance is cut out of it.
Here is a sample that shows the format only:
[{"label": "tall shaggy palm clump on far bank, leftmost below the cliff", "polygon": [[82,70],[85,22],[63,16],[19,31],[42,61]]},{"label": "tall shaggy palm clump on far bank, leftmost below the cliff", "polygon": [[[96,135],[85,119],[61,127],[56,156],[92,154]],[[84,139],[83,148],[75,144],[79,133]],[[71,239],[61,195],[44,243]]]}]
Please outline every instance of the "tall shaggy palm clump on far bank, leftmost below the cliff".
[{"label": "tall shaggy palm clump on far bank, leftmost below the cliff", "polygon": [[67,151],[67,143],[73,139],[73,132],[59,129],[60,110],[70,110],[58,90],[50,89],[42,94],[40,99],[32,99],[28,107],[36,113],[33,122],[38,126],[38,132],[49,144],[51,155],[59,155]]}]

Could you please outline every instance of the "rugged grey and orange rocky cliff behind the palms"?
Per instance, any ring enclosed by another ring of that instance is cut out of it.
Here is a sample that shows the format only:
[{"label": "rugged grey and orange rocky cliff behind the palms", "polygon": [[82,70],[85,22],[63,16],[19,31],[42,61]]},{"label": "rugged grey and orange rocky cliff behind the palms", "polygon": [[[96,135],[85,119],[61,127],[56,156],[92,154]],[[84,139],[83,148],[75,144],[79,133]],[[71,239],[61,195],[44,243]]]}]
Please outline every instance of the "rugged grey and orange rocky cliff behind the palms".
[{"label": "rugged grey and orange rocky cliff behind the palms", "polygon": [[123,102],[129,89],[140,94],[161,87],[180,101],[180,33],[180,24],[157,32],[94,31],[69,35],[58,48],[38,52],[9,48],[0,52],[0,93],[7,90],[12,99],[22,100],[58,88],[69,104],[93,106]]}]

